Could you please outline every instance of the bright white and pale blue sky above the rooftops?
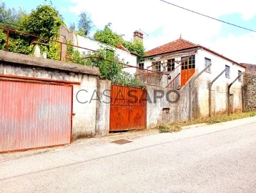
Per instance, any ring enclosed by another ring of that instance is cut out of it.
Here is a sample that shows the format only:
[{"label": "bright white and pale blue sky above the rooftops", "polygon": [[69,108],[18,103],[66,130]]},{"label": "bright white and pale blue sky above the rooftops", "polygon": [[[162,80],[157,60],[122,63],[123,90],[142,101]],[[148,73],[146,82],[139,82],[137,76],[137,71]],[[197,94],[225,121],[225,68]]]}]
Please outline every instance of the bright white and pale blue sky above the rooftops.
[{"label": "bright white and pale blue sky above the rooftops", "polygon": [[[146,50],[183,39],[206,46],[241,63],[256,64],[256,32],[223,24],[160,0],[51,0],[64,22],[77,23],[79,14],[87,11],[94,31],[109,22],[124,39],[133,39],[133,31],[144,31]],[[172,4],[256,31],[254,1],[165,0]],[[21,7],[27,12],[44,0],[5,0],[6,6]]]}]

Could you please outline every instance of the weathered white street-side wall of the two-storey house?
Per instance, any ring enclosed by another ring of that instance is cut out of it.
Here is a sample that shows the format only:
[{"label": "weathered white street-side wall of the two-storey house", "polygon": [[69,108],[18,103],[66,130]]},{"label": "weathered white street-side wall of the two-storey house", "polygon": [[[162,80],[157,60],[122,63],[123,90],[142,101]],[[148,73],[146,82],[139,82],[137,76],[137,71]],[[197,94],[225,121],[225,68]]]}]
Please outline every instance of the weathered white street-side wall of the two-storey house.
[{"label": "weathered white street-side wall of the two-storey house", "polygon": [[[209,114],[209,84],[215,79],[221,71],[225,69],[225,65],[230,66],[230,78],[225,76],[225,73],[220,76],[212,85],[212,114],[221,114],[227,112],[227,86],[234,81],[238,76],[238,70],[245,71],[242,66],[233,64],[220,56],[211,54],[203,49],[198,51],[196,56],[196,71],[205,69],[205,57],[211,59],[211,72],[204,72],[195,81],[198,86],[198,102],[200,107],[201,117],[207,117]],[[234,97],[234,111],[242,110],[242,81],[235,81],[230,89],[230,94]]]}]

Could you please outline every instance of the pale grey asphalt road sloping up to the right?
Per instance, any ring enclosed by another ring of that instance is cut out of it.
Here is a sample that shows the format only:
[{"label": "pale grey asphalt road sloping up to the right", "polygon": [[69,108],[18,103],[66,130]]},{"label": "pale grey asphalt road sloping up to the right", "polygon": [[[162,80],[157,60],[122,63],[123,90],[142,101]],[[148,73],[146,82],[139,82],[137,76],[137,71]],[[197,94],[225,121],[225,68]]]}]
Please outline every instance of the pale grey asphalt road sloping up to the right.
[{"label": "pale grey asphalt road sloping up to the right", "polygon": [[256,117],[3,159],[0,192],[255,193]]}]

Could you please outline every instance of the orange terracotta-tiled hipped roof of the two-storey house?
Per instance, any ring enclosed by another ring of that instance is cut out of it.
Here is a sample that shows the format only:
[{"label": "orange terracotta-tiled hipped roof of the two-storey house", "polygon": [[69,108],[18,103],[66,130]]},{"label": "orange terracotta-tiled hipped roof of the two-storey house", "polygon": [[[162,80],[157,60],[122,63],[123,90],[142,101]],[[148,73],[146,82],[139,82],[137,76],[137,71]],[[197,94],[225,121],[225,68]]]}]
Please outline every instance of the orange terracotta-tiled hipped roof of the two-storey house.
[{"label": "orange terracotta-tiled hipped roof of the two-storey house", "polygon": [[194,44],[190,41],[179,38],[175,41],[169,42],[162,46],[158,46],[154,49],[146,51],[146,56],[155,56],[158,54],[164,54],[172,51],[194,48],[195,46],[197,46],[197,44]]}]

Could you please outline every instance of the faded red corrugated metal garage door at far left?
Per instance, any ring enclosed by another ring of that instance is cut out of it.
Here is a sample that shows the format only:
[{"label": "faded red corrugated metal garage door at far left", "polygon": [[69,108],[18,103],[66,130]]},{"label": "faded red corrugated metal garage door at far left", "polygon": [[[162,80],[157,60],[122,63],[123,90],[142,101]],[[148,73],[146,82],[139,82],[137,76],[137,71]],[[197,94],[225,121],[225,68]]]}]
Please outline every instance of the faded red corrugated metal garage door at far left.
[{"label": "faded red corrugated metal garage door at far left", "polygon": [[72,86],[0,80],[0,152],[68,144]]}]

